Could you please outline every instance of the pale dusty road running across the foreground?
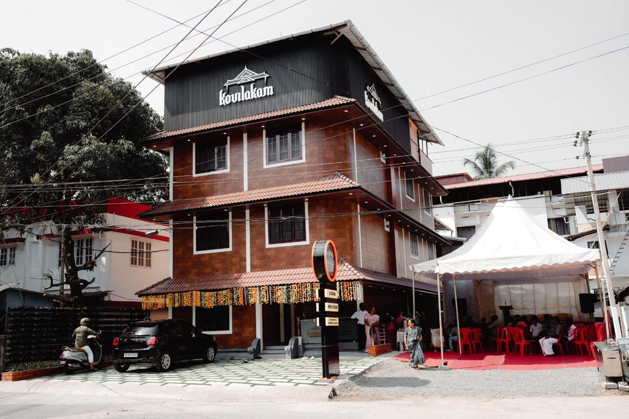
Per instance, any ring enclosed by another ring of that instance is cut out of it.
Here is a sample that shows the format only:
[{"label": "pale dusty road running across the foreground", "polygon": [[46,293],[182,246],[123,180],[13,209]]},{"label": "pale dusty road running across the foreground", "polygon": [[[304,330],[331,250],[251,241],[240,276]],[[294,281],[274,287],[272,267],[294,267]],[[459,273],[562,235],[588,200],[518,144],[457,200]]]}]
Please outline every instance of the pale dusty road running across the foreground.
[{"label": "pale dusty road running across the foreground", "polygon": [[[304,389],[303,391],[308,391]],[[369,417],[442,416],[467,418],[570,417],[596,418],[604,412],[622,417],[629,410],[629,396],[605,394],[562,398],[418,398],[408,394],[396,400],[359,398],[331,400],[309,398],[304,394],[292,400],[215,401],[211,390],[203,400],[152,399],[126,396],[64,396],[47,393],[0,392],[0,417],[6,419],[85,419],[85,418],[260,418],[282,417]],[[624,412],[624,413],[623,413]]]}]

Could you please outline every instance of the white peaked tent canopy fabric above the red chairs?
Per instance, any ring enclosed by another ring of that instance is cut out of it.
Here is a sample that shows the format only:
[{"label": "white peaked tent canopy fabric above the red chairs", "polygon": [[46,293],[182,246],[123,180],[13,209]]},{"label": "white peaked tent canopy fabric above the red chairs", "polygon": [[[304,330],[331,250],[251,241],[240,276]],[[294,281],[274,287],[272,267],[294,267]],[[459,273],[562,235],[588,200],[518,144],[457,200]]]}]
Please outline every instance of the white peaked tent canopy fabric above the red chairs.
[{"label": "white peaked tent canopy fabric above the red chairs", "polygon": [[542,226],[516,199],[496,203],[481,228],[454,252],[411,265],[411,271],[442,281],[535,284],[579,281],[600,259],[598,249],[568,242]]}]

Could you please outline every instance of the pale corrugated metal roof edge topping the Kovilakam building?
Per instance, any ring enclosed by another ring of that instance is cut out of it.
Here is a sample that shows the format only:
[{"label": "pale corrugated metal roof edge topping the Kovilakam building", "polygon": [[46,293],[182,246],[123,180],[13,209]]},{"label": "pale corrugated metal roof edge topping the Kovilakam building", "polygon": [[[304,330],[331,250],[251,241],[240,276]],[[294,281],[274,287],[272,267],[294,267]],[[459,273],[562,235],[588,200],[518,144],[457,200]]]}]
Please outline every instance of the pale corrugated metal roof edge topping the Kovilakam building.
[{"label": "pale corrugated metal roof edge topping the Kovilakam building", "polygon": [[220,55],[225,55],[232,52],[238,52],[242,50],[248,50],[253,47],[259,47],[260,45],[267,45],[269,43],[286,40],[288,38],[296,38],[297,36],[307,35],[309,33],[316,33],[322,31],[330,31],[333,30],[336,33],[343,34],[347,37],[347,39],[352,43],[353,47],[360,53],[360,55],[369,63],[370,67],[378,77],[386,84],[391,93],[400,101],[404,109],[408,111],[409,118],[413,120],[417,128],[420,129],[421,133],[423,133],[422,138],[427,141],[433,143],[439,143],[443,145],[443,142],[437,136],[437,133],[433,131],[433,129],[426,123],[424,118],[421,116],[420,111],[415,107],[415,104],[408,97],[402,86],[398,83],[396,78],[391,73],[391,70],[387,68],[387,66],[382,62],[380,57],[377,55],[376,51],[369,45],[369,42],[365,40],[365,37],[362,36],[360,31],[354,26],[351,20],[344,20],[338,23],[331,23],[330,25],[319,26],[318,28],[312,28],[304,31],[299,31],[296,33],[291,33],[288,35],[279,36],[277,38],[272,38],[270,40],[264,40],[261,42],[252,43],[249,45],[243,45],[242,47],[231,48],[230,50],[225,50],[221,52],[216,52],[210,55],[206,55],[204,57],[197,57],[194,59],[186,60],[182,63],[173,63],[162,65],[160,67],[155,68],[154,70],[144,70],[142,74],[149,75],[152,79],[155,79],[159,82],[162,82],[164,78],[165,70],[172,69],[177,67],[179,64],[190,64],[194,62],[199,62],[201,60],[210,59],[213,57],[218,57]]}]

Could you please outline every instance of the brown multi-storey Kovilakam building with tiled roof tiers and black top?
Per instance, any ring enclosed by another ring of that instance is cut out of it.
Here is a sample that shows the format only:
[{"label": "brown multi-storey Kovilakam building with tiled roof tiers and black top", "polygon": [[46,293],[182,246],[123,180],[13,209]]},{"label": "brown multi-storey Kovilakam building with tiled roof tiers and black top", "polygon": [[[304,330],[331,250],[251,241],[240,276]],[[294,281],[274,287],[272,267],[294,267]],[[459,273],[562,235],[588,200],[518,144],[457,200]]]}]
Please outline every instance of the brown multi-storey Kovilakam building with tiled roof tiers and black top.
[{"label": "brown multi-storey Kovilakam building with tiled roof tiers and black top", "polygon": [[[341,340],[357,303],[412,307],[410,264],[433,259],[431,197],[446,194],[428,148],[441,143],[351,21],[157,68],[170,201],[142,213],[172,227],[170,276],[138,292],[220,347],[311,342],[311,248],[333,240]],[[436,305],[434,282],[416,281]],[[316,336],[315,336],[316,338]]]}]

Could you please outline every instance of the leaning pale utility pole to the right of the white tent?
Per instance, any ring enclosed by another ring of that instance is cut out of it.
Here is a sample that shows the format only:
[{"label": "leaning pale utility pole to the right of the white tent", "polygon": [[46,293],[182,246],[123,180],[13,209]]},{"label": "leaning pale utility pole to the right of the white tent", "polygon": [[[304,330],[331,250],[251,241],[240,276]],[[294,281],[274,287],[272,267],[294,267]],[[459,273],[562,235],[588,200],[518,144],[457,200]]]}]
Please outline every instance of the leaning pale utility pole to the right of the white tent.
[{"label": "leaning pale utility pole to the right of the white tent", "polygon": [[[589,152],[589,136],[592,131],[581,131],[581,133],[577,133],[577,138],[580,137],[581,144],[584,146],[584,154],[587,161],[587,177],[589,178],[590,189],[592,191],[592,204],[594,206],[594,217],[596,218],[596,233],[598,235],[598,247],[601,252],[601,267],[603,268],[603,286],[607,287],[608,295],[610,296],[610,310],[611,310],[611,320],[614,323],[614,331],[616,332],[616,337],[624,337],[625,333],[620,327],[620,322],[618,321],[618,306],[616,305],[616,296],[614,295],[614,288],[611,284],[611,274],[610,274],[610,264],[607,256],[607,245],[605,244],[605,237],[603,235],[603,225],[601,225],[601,213],[598,209],[598,196],[596,194],[596,185],[594,185],[594,173],[592,172],[592,159]],[[610,208],[611,211],[611,208]],[[604,313],[606,316],[607,314]]]}]

